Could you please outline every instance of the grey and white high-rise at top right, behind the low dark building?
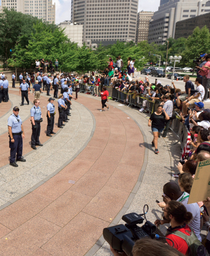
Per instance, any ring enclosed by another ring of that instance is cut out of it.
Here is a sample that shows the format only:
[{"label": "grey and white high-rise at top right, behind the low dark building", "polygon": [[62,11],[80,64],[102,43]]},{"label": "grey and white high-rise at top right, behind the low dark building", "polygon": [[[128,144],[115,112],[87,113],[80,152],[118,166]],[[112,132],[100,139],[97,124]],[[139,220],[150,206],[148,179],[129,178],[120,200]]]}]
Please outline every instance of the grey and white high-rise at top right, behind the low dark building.
[{"label": "grey and white high-rise at top right, behind the low dark building", "polygon": [[210,12],[209,5],[209,0],[166,1],[155,11],[149,23],[148,42],[163,44],[167,38],[174,38],[176,22]]}]

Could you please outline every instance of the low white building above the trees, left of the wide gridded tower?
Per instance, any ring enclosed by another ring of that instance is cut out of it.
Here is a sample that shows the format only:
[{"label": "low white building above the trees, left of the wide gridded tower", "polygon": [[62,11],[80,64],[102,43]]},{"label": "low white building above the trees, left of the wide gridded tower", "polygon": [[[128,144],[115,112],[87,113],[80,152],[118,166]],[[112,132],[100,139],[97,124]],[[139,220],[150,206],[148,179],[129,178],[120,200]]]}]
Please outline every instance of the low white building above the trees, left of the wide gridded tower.
[{"label": "low white building above the trees, left of the wide gridded tower", "polygon": [[64,29],[64,33],[70,39],[71,42],[77,43],[78,46],[82,46],[83,43],[83,25],[74,25],[70,20],[61,22],[59,26]]}]

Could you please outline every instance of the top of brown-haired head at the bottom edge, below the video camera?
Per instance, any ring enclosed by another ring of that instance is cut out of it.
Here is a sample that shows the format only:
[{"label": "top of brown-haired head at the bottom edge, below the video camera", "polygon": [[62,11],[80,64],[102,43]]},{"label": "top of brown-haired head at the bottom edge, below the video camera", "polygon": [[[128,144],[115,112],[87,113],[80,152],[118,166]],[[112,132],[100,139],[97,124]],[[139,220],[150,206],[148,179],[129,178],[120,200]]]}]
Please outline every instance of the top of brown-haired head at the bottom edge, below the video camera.
[{"label": "top of brown-haired head at the bottom edge, below the video camera", "polygon": [[[116,252],[110,247],[114,256],[127,256],[125,252]],[[152,239],[139,239],[132,249],[133,256],[184,256],[181,252],[165,243]]]}]

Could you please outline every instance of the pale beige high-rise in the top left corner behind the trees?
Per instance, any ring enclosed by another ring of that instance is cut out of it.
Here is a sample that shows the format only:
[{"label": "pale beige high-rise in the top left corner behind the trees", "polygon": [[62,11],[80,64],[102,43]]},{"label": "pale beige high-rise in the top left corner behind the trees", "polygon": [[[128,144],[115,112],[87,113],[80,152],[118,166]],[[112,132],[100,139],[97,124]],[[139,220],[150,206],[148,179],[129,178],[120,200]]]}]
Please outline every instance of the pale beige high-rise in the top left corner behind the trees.
[{"label": "pale beige high-rise in the top left corner behind the trees", "polygon": [[30,14],[49,23],[55,23],[55,4],[52,0],[2,0],[2,7]]}]

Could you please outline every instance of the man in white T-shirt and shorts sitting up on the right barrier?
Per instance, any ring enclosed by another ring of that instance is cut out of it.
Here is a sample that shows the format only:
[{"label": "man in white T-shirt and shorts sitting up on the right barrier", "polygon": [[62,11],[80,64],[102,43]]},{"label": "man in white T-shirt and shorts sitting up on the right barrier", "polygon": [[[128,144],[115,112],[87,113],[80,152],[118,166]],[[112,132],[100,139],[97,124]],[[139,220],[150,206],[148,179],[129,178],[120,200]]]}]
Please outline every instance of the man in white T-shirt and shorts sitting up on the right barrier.
[{"label": "man in white T-shirt and shorts sitting up on the right barrier", "polygon": [[184,113],[184,115],[187,115],[187,108],[194,107],[195,102],[202,102],[205,95],[205,89],[202,85],[202,78],[196,78],[194,83],[196,85],[197,93],[194,93],[192,96],[188,97],[187,100],[182,102],[182,113]]}]

